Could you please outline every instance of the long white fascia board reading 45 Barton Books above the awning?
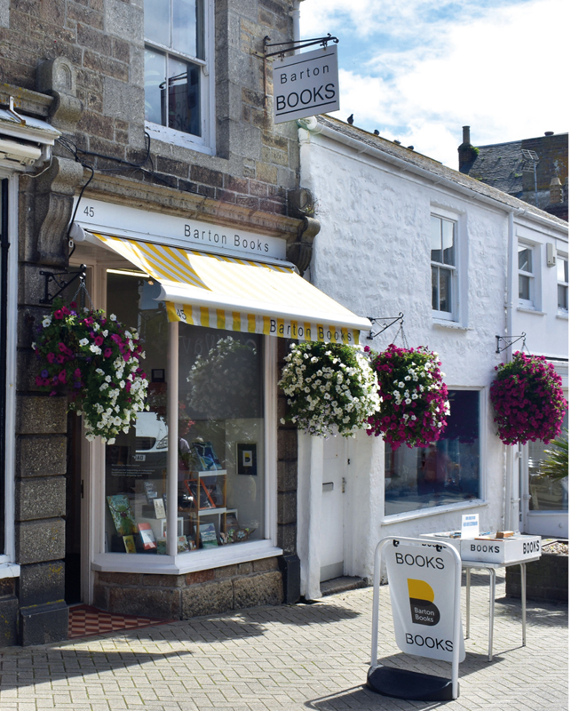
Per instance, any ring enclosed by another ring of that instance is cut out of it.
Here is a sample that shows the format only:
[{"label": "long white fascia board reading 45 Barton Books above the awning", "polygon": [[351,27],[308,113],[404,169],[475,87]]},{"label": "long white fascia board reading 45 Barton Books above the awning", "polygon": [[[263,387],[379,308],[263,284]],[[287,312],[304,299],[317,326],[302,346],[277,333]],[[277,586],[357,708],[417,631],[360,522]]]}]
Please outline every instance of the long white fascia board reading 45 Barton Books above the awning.
[{"label": "long white fascia board reading 45 Barton Books above the awning", "polygon": [[[74,210],[76,204],[77,198]],[[234,256],[239,253],[259,260],[285,260],[286,257],[286,241],[280,237],[258,235],[241,228],[186,220],[84,197],[75,213],[75,222],[91,232],[126,236],[201,252]]]}]

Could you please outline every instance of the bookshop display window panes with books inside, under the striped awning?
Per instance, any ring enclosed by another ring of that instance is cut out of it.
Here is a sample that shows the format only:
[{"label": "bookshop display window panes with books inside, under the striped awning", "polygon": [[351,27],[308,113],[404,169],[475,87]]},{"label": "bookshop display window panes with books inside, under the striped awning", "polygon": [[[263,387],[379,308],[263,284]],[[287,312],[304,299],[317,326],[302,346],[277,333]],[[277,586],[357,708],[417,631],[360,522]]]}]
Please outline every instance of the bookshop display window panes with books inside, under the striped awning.
[{"label": "bookshop display window panes with books inside, under the striped awning", "polygon": [[[149,411],[106,447],[105,550],[167,553],[168,323],[158,285],[107,272],[107,312],[144,343]],[[180,324],[178,553],[264,538],[263,339]]]}]

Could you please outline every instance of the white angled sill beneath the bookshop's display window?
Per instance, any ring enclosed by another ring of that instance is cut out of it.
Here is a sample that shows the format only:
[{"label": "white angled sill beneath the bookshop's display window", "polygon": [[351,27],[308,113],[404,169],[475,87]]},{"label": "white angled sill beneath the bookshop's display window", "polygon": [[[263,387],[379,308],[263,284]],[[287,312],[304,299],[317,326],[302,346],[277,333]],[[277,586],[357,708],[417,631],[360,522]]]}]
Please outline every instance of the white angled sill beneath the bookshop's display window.
[{"label": "white angled sill beneath the bookshop's display window", "polygon": [[91,570],[105,572],[141,572],[148,575],[185,575],[187,572],[210,571],[236,563],[250,563],[263,558],[283,555],[282,548],[271,540],[256,540],[218,548],[194,550],[172,555],[100,553],[95,555]]}]

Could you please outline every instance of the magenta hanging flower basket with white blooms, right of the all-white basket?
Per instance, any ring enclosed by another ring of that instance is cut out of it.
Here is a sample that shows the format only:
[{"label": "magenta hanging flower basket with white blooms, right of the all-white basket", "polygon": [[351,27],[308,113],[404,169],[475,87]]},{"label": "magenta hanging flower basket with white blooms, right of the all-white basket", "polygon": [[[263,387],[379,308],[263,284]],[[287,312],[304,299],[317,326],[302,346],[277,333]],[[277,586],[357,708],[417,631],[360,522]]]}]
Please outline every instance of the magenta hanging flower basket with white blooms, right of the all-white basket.
[{"label": "magenta hanging flower basket with white blooms, right of the all-white basket", "polygon": [[369,353],[382,402],[369,418],[368,434],[383,435],[393,450],[400,444],[427,447],[436,442],[450,414],[438,354],[424,346],[397,348],[394,344],[383,353],[370,349]]}]

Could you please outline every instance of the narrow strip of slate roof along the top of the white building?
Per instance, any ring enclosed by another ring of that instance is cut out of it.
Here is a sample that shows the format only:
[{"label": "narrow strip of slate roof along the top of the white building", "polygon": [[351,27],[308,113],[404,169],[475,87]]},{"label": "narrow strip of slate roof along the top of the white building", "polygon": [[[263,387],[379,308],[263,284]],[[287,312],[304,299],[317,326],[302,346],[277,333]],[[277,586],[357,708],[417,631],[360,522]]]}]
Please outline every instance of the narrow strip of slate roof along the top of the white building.
[{"label": "narrow strip of slate roof along the top of the white building", "polygon": [[[558,217],[550,215],[548,212],[544,212],[535,207],[535,205],[524,203],[517,197],[513,197],[508,193],[500,190],[498,188],[492,188],[487,185],[483,180],[476,180],[470,175],[466,175],[463,172],[455,171],[453,168],[448,168],[448,166],[441,164],[439,161],[429,158],[428,156],[423,156],[422,153],[417,153],[415,150],[410,148],[405,148],[393,140],[387,140],[381,136],[376,136],[368,131],[363,131],[363,129],[357,126],[351,126],[345,124],[343,121],[338,121],[331,116],[322,115],[317,116],[317,121],[319,124],[329,126],[338,133],[343,133],[345,136],[352,138],[354,140],[359,140],[361,143],[369,145],[371,148],[377,148],[377,150],[382,151],[387,156],[394,156],[402,161],[410,164],[411,166],[416,166],[424,171],[431,172],[435,178],[444,178],[446,180],[451,180],[455,182],[458,186],[462,188],[467,188],[472,190],[475,195],[483,196],[491,200],[495,200],[498,203],[502,203],[511,207],[514,211],[527,212],[529,215],[535,215],[537,217],[543,218],[543,220],[550,220],[554,226],[563,227],[567,230],[568,225],[564,220],[559,220]],[[520,143],[520,142],[519,142]],[[512,144],[504,144],[512,145]],[[517,145],[515,142],[513,145]]]}]

